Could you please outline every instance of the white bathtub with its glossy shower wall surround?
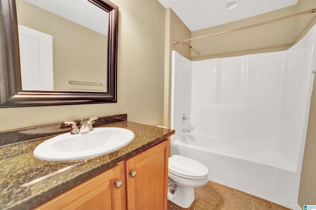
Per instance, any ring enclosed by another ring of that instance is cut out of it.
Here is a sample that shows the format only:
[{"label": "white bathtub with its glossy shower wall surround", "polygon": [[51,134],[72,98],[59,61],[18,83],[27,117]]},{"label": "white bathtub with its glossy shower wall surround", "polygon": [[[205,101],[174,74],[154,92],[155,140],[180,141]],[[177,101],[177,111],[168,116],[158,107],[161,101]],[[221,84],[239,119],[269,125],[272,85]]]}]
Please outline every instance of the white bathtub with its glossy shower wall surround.
[{"label": "white bathtub with its glossy shower wall surround", "polygon": [[[173,52],[171,155],[200,161],[212,181],[293,208],[316,69],[315,36],[313,27],[286,51],[195,62]],[[190,116],[185,123],[183,113]]]}]

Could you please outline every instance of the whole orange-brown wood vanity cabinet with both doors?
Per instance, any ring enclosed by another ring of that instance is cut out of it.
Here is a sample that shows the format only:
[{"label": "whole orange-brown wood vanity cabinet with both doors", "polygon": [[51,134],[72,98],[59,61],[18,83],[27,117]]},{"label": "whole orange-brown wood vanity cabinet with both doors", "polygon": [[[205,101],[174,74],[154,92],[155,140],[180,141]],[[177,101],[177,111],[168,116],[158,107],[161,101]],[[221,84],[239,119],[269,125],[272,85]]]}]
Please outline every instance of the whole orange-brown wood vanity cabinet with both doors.
[{"label": "whole orange-brown wood vanity cabinet with both doors", "polygon": [[168,157],[169,140],[163,140],[35,209],[167,210]]}]

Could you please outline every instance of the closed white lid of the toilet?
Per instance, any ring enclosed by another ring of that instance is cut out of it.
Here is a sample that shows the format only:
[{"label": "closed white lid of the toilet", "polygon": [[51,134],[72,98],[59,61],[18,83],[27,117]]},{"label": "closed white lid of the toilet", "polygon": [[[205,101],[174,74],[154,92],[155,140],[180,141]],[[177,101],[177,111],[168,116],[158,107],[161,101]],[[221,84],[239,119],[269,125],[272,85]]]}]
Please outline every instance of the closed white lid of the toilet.
[{"label": "closed white lid of the toilet", "polygon": [[200,162],[180,156],[173,155],[169,157],[168,171],[171,174],[188,176],[188,177],[201,177],[208,175],[208,169]]}]

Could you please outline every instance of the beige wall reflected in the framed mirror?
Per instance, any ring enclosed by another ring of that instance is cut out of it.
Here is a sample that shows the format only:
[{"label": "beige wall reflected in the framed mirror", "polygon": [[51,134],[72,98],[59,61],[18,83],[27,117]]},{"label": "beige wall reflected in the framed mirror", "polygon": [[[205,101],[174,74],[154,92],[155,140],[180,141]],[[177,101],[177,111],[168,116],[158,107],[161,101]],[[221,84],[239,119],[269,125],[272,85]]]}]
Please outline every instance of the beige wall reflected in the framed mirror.
[{"label": "beige wall reflected in the framed mirror", "polygon": [[[16,8],[19,25],[53,37],[54,90],[106,91],[107,35],[25,0],[16,0]],[[104,86],[72,85],[68,80],[98,82]]]}]

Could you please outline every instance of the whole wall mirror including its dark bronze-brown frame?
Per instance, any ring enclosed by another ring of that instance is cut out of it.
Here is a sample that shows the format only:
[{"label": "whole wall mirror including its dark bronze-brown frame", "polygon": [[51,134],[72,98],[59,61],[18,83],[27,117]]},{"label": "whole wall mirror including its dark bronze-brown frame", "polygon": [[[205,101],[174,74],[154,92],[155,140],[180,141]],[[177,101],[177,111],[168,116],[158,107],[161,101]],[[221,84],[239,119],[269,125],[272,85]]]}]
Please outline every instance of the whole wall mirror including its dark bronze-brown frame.
[{"label": "whole wall mirror including its dark bronze-brown frame", "polygon": [[0,107],[117,102],[116,5],[1,0],[0,11]]}]

